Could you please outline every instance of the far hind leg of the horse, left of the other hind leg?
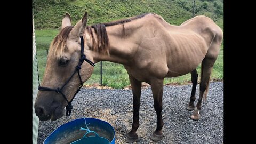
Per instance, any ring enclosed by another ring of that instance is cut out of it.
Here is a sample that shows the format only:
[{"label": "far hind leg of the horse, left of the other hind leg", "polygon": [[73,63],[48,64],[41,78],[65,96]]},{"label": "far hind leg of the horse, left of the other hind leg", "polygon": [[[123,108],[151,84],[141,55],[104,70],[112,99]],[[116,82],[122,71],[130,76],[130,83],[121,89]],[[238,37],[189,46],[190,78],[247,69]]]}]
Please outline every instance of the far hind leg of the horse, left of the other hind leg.
[{"label": "far hind leg of the horse, left of the other hind leg", "polygon": [[191,96],[190,96],[190,101],[189,101],[188,106],[186,108],[189,111],[195,109],[194,102],[196,100],[196,85],[197,85],[197,77],[198,77],[196,69],[191,71],[190,74],[191,74],[191,81],[192,81],[193,85],[192,85],[192,92],[191,92]]}]

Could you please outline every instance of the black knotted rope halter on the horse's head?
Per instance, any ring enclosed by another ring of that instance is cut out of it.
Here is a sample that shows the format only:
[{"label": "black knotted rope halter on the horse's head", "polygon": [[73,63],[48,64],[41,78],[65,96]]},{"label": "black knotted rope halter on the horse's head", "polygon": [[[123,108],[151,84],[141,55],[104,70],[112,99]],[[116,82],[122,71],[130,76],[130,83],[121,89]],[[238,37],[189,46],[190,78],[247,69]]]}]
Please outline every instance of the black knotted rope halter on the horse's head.
[{"label": "black knotted rope halter on the horse's head", "polygon": [[[86,59],[86,56],[84,55],[84,38],[83,38],[83,36],[81,36],[80,38],[81,38],[81,58],[79,59],[78,65],[76,66],[76,69],[75,69],[74,73],[69,77],[68,81],[66,81],[66,83],[61,88],[57,87],[57,89],[52,89],[52,88],[49,88],[49,87],[38,86],[38,90],[40,90],[40,91],[55,91],[57,93],[61,93],[63,98],[68,102],[68,105],[66,106],[66,110],[67,110],[66,111],[66,116],[70,116],[71,110],[73,108],[73,106],[71,106],[71,103],[72,103],[73,99],[75,98],[76,94],[80,91],[81,87],[83,86],[82,78],[81,78],[80,73],[79,73],[79,70],[81,69],[81,65],[83,64],[83,62],[85,60],[86,62],[88,62],[93,67],[95,66],[92,61],[90,61],[89,59]],[[67,85],[67,83],[71,80],[71,78],[75,75],[76,72],[78,73],[81,85],[77,89],[77,91],[74,94],[73,98],[70,101],[68,101],[68,99],[65,96],[65,94],[62,93],[62,89],[63,89],[63,87],[65,87],[65,85]]]}]

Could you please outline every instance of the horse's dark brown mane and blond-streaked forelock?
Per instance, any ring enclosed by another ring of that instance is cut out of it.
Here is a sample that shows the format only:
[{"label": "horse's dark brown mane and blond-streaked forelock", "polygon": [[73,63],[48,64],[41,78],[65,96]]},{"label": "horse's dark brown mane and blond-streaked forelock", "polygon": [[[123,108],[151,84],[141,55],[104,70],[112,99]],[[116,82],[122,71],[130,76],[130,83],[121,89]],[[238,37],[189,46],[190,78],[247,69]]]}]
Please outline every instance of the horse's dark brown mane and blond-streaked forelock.
[{"label": "horse's dark brown mane and blond-streaked forelock", "polygon": [[[89,31],[90,37],[92,38],[92,50],[102,55],[108,54],[109,39],[108,39],[106,27],[124,24],[130,21],[145,17],[145,15],[148,15],[148,14],[150,13],[144,13],[128,19],[117,20],[117,21],[107,22],[107,23],[99,23],[92,26],[86,26],[86,29]],[[53,39],[50,48],[55,47],[54,55],[56,55],[57,58],[60,58],[64,52],[67,52],[66,41],[68,38],[68,34],[70,33],[73,27],[74,26],[67,26],[63,28],[60,31],[60,33]],[[95,41],[93,30],[92,30],[93,28],[97,36],[98,43]]]}]

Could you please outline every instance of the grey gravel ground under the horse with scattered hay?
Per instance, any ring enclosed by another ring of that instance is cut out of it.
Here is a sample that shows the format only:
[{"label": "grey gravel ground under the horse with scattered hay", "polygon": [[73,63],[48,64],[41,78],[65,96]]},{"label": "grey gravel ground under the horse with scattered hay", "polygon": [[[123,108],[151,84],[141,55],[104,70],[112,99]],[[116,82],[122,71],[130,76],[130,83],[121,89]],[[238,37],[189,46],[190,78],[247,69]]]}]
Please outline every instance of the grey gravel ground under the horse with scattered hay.
[{"label": "grey gravel ground under the horse with scattered hay", "polygon": [[[199,84],[196,90],[198,99]],[[201,119],[190,119],[192,111],[186,110],[191,85],[164,86],[163,140],[153,142],[150,135],[156,129],[156,113],[151,87],[141,91],[139,139],[135,143],[223,143],[223,82],[211,82],[207,101],[203,102]],[[116,143],[125,143],[132,126],[132,90],[85,89],[76,95],[69,117],[57,121],[39,122],[38,142],[58,126],[73,119],[93,117],[109,122],[116,131]]]}]

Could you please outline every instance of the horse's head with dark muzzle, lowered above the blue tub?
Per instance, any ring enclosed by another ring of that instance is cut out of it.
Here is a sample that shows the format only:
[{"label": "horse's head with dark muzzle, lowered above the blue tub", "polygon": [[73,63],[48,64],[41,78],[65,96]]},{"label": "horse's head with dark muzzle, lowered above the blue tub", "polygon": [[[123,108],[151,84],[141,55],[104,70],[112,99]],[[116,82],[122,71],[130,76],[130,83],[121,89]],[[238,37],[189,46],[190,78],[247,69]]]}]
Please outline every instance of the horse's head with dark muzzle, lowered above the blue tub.
[{"label": "horse's head with dark muzzle, lowered above the blue tub", "polygon": [[[61,31],[51,43],[41,83],[42,87],[47,87],[47,89],[50,88],[51,90],[39,89],[40,91],[35,102],[36,115],[42,121],[49,119],[55,121],[63,116],[67,101],[73,98],[73,95],[81,85],[77,71],[79,71],[82,83],[92,75],[93,67],[90,65],[90,62],[83,62],[81,69],[76,67],[82,58],[80,36],[84,35],[86,23],[87,12],[84,14],[83,19],[78,21],[74,27],[71,26],[70,15],[66,13],[62,20]],[[86,43],[83,54],[85,54],[87,60],[93,61],[92,53]],[[73,73],[74,76],[71,77]],[[58,87],[61,91],[57,90]],[[63,95],[65,95],[67,100]]]}]

